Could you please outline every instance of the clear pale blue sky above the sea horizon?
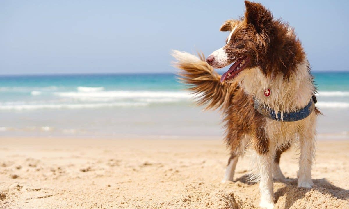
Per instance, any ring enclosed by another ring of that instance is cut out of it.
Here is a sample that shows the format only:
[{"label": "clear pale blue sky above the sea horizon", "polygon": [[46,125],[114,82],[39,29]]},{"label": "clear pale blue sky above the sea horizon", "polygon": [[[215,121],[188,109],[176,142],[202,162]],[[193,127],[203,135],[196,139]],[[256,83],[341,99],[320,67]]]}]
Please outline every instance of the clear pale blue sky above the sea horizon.
[{"label": "clear pale blue sky above the sea horizon", "polygon": [[[347,71],[348,1],[260,1],[294,26],[313,71]],[[206,55],[244,1],[0,1],[0,74],[173,72],[171,49]]]}]

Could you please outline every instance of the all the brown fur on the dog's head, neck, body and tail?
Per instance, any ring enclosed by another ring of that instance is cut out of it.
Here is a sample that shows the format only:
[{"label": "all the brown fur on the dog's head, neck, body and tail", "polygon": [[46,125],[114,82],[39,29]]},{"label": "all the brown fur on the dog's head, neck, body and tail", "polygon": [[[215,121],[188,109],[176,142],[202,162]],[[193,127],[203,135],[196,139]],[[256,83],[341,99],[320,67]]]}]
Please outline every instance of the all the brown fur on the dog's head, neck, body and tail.
[{"label": "all the brown fur on the dog's head, neck, body and tail", "polygon": [[[210,65],[220,68],[231,64],[239,57],[248,57],[248,69],[258,67],[267,78],[275,78],[282,73],[284,85],[297,73],[297,64],[306,61],[304,49],[293,29],[287,23],[275,20],[272,13],[259,3],[245,1],[246,11],[240,20],[227,20],[221,31],[232,31],[223,50],[228,55],[224,66],[217,62]],[[229,40],[229,42],[228,42]],[[258,154],[269,152],[269,140],[265,133],[266,119],[254,109],[254,101],[248,96],[237,80],[220,83],[220,76],[205,62],[200,54],[200,62],[177,62],[182,71],[182,82],[189,84],[189,90],[199,95],[198,104],[205,109],[220,108],[225,127],[225,141],[231,150],[231,156],[244,152],[242,139],[245,134],[252,136],[252,147]],[[310,73],[310,68],[307,68]],[[315,93],[315,92],[314,92]],[[315,113],[321,114],[315,107]],[[290,145],[276,150],[275,162],[280,162],[280,155]],[[230,159],[231,160],[231,159]],[[229,160],[229,161],[230,161]]]}]

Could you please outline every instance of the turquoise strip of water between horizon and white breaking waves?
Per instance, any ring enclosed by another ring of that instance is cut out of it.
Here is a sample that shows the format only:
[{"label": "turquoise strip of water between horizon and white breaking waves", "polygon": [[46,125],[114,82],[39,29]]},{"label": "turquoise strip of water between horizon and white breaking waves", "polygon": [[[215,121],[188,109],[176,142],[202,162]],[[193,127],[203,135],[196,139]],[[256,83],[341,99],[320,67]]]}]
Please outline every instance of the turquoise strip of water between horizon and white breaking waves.
[{"label": "turquoise strip of water between horizon and white breaking waves", "polygon": [[[315,84],[323,91],[349,91],[349,72],[314,72]],[[101,74],[101,75],[45,75],[45,76],[0,76],[1,92],[4,88],[61,87],[74,89],[77,86],[103,86],[107,90],[181,90],[176,75],[156,74]],[[13,89],[15,90],[15,89]],[[29,89],[28,89],[29,90]]]}]

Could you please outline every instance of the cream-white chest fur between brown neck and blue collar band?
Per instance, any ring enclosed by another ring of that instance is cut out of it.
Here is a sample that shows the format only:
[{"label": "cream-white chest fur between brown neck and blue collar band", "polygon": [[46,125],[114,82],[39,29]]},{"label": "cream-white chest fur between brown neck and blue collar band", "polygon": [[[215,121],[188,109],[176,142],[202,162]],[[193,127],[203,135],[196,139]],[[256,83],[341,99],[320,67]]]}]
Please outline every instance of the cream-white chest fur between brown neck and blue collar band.
[{"label": "cream-white chest fur between brown neck and blue collar band", "polygon": [[[315,91],[308,65],[307,61],[298,64],[289,81],[283,79],[282,73],[268,79],[259,68],[254,68],[243,76],[240,83],[244,91],[263,106],[272,108],[276,113],[289,113],[304,108]],[[271,93],[266,97],[264,92],[268,88]]]}]

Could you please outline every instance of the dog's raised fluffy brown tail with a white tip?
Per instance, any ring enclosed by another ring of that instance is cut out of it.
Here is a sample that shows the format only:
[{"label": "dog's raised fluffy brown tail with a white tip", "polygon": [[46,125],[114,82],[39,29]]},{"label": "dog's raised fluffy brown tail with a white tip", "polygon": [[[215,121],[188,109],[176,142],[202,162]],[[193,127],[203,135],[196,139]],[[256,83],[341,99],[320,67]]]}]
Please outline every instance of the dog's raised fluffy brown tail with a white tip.
[{"label": "dog's raised fluffy brown tail with a white tip", "polygon": [[206,63],[205,56],[199,57],[177,50],[172,51],[172,56],[176,58],[174,66],[179,68],[177,73],[182,83],[189,84],[188,90],[196,95],[196,102],[205,105],[208,109],[224,109],[229,106],[230,97],[237,84],[220,82],[220,75]]}]

